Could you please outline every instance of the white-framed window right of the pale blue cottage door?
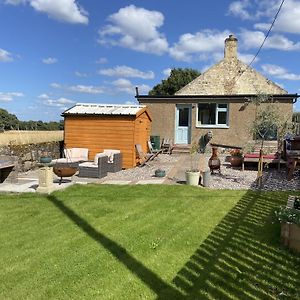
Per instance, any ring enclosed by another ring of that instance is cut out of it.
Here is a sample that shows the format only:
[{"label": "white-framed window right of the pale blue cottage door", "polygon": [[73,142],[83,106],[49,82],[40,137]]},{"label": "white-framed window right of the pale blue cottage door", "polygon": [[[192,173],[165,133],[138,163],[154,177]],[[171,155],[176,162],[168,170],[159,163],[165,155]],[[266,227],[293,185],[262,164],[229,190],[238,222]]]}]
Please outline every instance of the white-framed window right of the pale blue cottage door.
[{"label": "white-framed window right of the pale blue cottage door", "polygon": [[228,126],[228,104],[226,103],[199,103],[198,126]]}]

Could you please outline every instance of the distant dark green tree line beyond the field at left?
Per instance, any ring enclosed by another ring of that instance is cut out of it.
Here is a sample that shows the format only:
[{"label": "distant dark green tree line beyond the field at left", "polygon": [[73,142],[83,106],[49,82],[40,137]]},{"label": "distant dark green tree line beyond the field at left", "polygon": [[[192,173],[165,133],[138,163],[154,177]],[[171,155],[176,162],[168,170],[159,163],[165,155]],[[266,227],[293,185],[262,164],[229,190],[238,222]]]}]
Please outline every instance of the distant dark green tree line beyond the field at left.
[{"label": "distant dark green tree line beyond the field at left", "polygon": [[0,131],[7,130],[63,130],[64,121],[43,122],[39,121],[20,121],[16,115],[9,113],[7,110],[0,108]]}]

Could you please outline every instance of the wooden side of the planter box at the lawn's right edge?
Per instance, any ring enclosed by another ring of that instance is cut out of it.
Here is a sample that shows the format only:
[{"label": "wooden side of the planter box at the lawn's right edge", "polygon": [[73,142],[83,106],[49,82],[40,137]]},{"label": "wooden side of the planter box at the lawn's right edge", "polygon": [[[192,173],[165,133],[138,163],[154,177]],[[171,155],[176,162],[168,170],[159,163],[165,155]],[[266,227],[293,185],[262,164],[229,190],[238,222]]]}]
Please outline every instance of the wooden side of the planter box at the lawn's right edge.
[{"label": "wooden side of the planter box at the lawn's right edge", "polygon": [[281,242],[284,246],[300,253],[300,226],[293,223],[281,223]]}]

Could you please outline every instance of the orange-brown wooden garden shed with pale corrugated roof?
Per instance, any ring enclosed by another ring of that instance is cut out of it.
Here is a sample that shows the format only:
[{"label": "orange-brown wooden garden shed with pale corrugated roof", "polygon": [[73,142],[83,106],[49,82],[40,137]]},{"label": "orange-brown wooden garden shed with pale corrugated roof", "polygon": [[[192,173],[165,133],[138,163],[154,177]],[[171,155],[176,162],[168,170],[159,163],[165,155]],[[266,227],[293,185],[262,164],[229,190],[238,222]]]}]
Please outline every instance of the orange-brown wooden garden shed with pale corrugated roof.
[{"label": "orange-brown wooden garden shed with pale corrugated roof", "polygon": [[88,148],[90,160],[104,149],[118,149],[122,167],[132,168],[136,166],[135,144],[147,151],[152,120],[146,106],[78,103],[62,116],[66,147]]}]

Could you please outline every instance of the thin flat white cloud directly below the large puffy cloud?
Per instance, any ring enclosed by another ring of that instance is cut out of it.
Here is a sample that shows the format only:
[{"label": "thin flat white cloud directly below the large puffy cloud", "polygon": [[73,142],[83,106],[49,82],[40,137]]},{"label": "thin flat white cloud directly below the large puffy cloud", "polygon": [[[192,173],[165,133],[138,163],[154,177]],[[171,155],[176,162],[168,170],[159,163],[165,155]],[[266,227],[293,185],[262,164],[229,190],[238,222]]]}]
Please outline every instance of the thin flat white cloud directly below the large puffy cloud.
[{"label": "thin flat white cloud directly below the large puffy cloud", "polygon": [[128,66],[116,66],[109,69],[101,69],[98,71],[101,75],[115,76],[115,77],[136,77],[143,79],[153,79],[154,73],[152,71],[143,72]]}]

